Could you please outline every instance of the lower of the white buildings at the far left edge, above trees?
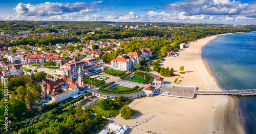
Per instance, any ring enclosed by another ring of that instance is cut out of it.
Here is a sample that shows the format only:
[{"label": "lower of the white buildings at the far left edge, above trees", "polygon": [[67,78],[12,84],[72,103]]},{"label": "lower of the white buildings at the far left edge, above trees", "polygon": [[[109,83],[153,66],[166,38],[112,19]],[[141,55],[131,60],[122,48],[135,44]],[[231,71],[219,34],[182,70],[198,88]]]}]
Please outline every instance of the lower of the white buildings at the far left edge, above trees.
[{"label": "lower of the white buildings at the far left edge, above trees", "polygon": [[7,66],[7,70],[3,71],[3,76],[19,76],[23,74],[22,64]]}]

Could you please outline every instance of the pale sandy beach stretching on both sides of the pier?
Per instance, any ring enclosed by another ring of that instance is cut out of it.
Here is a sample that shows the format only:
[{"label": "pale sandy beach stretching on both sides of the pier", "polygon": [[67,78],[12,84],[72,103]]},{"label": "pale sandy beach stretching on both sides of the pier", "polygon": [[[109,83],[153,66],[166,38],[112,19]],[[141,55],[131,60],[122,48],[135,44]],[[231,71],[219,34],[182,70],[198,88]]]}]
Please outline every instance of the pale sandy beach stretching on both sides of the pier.
[{"label": "pale sandy beach stretching on both sides of the pier", "polygon": [[[224,34],[222,34],[224,35]],[[207,69],[201,56],[202,47],[214,35],[189,43],[178,57],[166,57],[160,65],[174,68],[174,77],[162,77],[164,81],[176,85],[197,86],[198,90],[222,90],[215,78]],[[185,74],[178,77],[180,66],[184,66]],[[160,74],[154,73],[158,76]],[[179,78],[177,83],[173,81]],[[195,99],[183,99],[166,96],[153,96],[135,99],[129,104],[137,110],[130,120],[118,115],[113,121],[121,125],[132,125],[150,116],[148,122],[135,126],[129,133],[245,133],[238,115],[238,100],[230,96],[202,96]],[[218,129],[218,130],[217,130]]]}]

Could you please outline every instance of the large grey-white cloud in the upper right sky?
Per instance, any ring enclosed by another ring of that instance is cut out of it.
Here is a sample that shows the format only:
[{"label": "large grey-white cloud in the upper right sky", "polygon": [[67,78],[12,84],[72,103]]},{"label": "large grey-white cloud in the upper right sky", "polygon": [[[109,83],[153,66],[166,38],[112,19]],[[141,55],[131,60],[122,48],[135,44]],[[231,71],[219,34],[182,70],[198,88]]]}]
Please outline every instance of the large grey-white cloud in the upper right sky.
[{"label": "large grey-white cloud in the upper right sky", "polygon": [[184,15],[244,15],[256,17],[255,2],[241,4],[229,0],[186,0],[164,4],[164,9],[185,12]]}]

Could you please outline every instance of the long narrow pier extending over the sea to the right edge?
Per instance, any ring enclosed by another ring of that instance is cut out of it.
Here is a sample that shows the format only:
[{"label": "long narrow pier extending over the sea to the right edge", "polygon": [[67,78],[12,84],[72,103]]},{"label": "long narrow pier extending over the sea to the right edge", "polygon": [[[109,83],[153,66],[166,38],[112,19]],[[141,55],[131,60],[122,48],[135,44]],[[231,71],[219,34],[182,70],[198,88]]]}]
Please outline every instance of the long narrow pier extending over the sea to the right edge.
[{"label": "long narrow pier extending over the sea to the right edge", "polygon": [[230,90],[230,91],[195,91],[196,95],[232,95],[232,96],[254,96],[256,90]]}]

